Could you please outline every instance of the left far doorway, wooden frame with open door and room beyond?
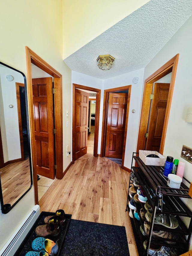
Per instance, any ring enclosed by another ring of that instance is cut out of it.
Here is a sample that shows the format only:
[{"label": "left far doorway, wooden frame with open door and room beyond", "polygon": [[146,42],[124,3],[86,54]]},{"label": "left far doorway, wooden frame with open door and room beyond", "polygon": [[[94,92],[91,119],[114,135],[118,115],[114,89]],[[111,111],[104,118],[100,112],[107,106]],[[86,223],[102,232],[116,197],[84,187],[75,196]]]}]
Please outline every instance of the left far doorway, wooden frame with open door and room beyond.
[{"label": "left far doorway, wooden frame with open door and room beyond", "polygon": [[[84,92],[81,95],[81,91]],[[93,116],[91,119],[91,109],[90,104],[93,99],[93,96],[90,96],[90,93],[94,93],[94,100],[95,100],[95,125],[92,125],[92,134],[91,134],[91,124],[93,124]],[[89,102],[90,98],[90,102]],[[73,133],[72,133],[72,161],[79,159],[79,157],[83,157],[85,154],[87,154],[87,148],[89,149],[92,147],[91,155],[90,156],[98,156],[98,132],[99,132],[99,112],[100,112],[100,98],[101,98],[101,90],[95,89],[88,86],[82,86],[78,84],[73,84]],[[82,102],[82,103],[80,103]],[[81,104],[85,104],[80,106]],[[87,109],[86,114],[85,111],[80,112],[80,109]],[[85,114],[85,115],[84,115]],[[80,131],[80,116],[86,116],[87,123],[83,122],[82,129]],[[92,121],[91,121],[92,120]],[[93,128],[93,126],[95,126]],[[86,130],[85,130],[86,129]],[[87,130],[90,129],[90,132],[87,132]],[[94,132],[93,132],[94,131]],[[94,136],[92,136],[94,135]],[[87,137],[85,137],[87,136]],[[85,141],[85,143],[82,143],[82,140]],[[89,143],[88,143],[89,140]],[[94,144],[93,144],[94,142]],[[80,145],[83,145],[81,146]],[[90,144],[90,145],[88,145]],[[88,146],[88,147],[87,147]],[[82,153],[79,154],[79,148],[83,149]]]}]

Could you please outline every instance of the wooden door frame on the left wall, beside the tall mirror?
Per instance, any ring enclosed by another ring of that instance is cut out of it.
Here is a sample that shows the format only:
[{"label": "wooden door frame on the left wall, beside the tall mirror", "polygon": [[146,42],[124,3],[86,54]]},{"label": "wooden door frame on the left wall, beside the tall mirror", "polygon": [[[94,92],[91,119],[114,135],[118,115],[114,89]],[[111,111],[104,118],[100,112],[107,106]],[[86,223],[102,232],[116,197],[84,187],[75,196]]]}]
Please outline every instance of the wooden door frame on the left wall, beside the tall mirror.
[{"label": "wooden door frame on the left wall, beside the tall mirror", "polygon": [[47,62],[41,57],[29,49],[26,46],[26,61],[27,61],[27,92],[29,99],[29,120],[30,120],[30,131],[31,131],[31,147],[32,147],[32,163],[33,163],[33,181],[35,191],[35,203],[38,204],[38,186],[37,186],[37,173],[35,171],[35,159],[36,159],[36,147],[35,147],[35,127],[34,127],[34,116],[33,116],[33,92],[32,92],[32,70],[31,63],[41,68],[47,74],[54,78],[54,88],[56,94],[54,98],[54,113],[55,113],[55,128],[57,133],[55,134],[55,162],[57,164],[56,178],[63,178],[63,125],[62,125],[62,75],[52,68]]}]

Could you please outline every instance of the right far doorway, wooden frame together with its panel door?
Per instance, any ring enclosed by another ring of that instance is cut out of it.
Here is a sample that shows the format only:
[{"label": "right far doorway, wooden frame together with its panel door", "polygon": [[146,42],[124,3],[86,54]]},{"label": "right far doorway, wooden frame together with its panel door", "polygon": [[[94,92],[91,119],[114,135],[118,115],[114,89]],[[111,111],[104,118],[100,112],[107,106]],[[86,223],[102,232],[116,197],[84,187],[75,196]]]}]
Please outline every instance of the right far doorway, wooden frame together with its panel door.
[{"label": "right far doorway, wooden frame together with its panel door", "polygon": [[[122,97],[121,94],[123,95]],[[117,151],[117,153],[113,155],[113,158],[119,158],[121,156],[122,160],[120,165],[124,169],[130,97],[131,85],[104,90],[101,157],[109,156],[110,153]],[[119,117],[121,117],[120,120],[118,120]],[[109,132],[108,127],[110,129]],[[115,128],[116,131],[113,131],[113,128]],[[123,128],[123,131],[120,131],[121,129],[119,128]],[[120,137],[121,143],[119,140]],[[119,152],[116,150],[117,148]]]}]

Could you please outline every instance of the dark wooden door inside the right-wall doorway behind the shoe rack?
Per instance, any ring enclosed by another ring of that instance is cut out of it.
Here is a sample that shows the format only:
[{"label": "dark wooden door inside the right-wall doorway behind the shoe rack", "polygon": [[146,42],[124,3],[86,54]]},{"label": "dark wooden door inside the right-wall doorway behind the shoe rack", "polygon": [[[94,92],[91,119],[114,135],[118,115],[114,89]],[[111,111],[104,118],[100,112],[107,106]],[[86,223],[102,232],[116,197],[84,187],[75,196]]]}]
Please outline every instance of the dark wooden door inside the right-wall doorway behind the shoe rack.
[{"label": "dark wooden door inside the right-wall doorway behind the shoe rack", "polygon": [[170,83],[155,83],[146,150],[159,152]]}]

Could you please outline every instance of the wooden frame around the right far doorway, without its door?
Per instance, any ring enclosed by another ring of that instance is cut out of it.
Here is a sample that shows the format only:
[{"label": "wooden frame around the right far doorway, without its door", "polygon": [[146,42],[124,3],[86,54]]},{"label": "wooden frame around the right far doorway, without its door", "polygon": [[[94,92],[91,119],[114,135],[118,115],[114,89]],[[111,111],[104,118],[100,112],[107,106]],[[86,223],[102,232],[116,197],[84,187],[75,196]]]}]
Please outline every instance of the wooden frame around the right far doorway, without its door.
[{"label": "wooden frame around the right far doorway, without its door", "polygon": [[105,147],[106,147],[106,136],[107,136],[107,113],[108,113],[108,99],[110,92],[119,92],[128,90],[128,100],[127,100],[127,113],[125,120],[125,136],[123,142],[123,155],[122,155],[122,169],[124,167],[125,160],[125,146],[126,146],[126,138],[127,138],[127,128],[128,128],[128,116],[129,116],[129,104],[131,97],[131,85],[116,87],[112,89],[104,90],[104,103],[103,103],[103,125],[102,125],[102,135],[101,135],[101,157],[105,156]]}]

